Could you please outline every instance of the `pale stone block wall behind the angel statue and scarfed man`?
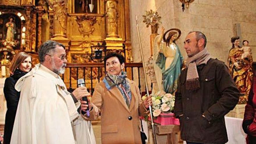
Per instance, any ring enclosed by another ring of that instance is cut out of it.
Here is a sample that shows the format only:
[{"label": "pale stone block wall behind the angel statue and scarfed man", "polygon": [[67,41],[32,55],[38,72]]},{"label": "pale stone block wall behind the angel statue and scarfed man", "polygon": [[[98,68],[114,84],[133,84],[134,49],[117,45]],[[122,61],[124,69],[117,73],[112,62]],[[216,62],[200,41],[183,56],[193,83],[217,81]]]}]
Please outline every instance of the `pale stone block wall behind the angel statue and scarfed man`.
[{"label": "pale stone block wall behind the angel statue and scarfed man", "polygon": [[[146,3],[147,2],[147,3]],[[165,29],[178,28],[182,35],[177,40],[182,55],[186,58],[183,41],[189,31],[202,31],[207,36],[207,49],[212,58],[218,58],[227,63],[228,51],[232,44],[230,38],[237,35],[236,23],[241,25],[241,40],[248,40],[256,58],[256,1],[255,0],[195,0],[189,9],[182,12],[178,0],[131,0],[131,43],[134,61],[141,61],[138,51],[135,15],[139,18],[139,28],[145,59],[150,57],[150,33],[142,22],[145,10],[156,10],[162,17]],[[160,33],[160,29],[158,30]]]}]

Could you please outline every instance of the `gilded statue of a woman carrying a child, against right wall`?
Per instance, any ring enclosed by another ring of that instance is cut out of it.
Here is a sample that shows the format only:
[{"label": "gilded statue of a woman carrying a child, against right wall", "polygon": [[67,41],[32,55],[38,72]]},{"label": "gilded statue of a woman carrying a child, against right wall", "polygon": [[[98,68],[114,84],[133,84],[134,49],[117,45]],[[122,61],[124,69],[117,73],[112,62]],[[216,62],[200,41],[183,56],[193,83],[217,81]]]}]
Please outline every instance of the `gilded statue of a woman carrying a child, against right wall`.
[{"label": "gilded statue of a woman carrying a child, against right wall", "polygon": [[253,80],[253,58],[251,49],[239,46],[239,37],[232,37],[232,48],[228,55],[229,71],[242,96],[238,104],[246,104]]}]

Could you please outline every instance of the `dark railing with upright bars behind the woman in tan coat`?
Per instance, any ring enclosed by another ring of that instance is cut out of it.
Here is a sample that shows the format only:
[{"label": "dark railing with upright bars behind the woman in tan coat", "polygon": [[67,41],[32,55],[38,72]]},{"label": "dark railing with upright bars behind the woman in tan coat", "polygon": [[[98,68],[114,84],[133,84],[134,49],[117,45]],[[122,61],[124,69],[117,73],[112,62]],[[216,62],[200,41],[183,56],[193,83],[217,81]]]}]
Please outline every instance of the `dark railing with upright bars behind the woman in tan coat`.
[{"label": "dark railing with upright bars behind the woman in tan coat", "polygon": [[[134,80],[141,90],[141,72],[143,72],[142,63],[125,63],[127,78]],[[86,87],[90,93],[93,93],[96,83],[105,76],[105,67],[103,63],[67,63],[65,74],[62,79],[69,91],[77,88],[77,79],[84,79]],[[143,90],[144,91],[144,90]]]}]

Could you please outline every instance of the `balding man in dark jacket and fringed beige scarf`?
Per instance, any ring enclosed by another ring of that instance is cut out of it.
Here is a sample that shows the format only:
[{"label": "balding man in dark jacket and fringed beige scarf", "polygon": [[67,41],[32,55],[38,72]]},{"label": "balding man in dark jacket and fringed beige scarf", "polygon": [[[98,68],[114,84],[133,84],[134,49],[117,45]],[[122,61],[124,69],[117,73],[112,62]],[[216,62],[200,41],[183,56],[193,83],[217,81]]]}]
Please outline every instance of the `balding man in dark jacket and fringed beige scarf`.
[{"label": "balding man in dark jacket and fringed beige scarf", "polygon": [[184,44],[188,59],[179,78],[174,106],[181,138],[187,144],[224,144],[228,141],[224,115],[236,106],[239,90],[227,66],[210,58],[202,32],[190,32]]}]

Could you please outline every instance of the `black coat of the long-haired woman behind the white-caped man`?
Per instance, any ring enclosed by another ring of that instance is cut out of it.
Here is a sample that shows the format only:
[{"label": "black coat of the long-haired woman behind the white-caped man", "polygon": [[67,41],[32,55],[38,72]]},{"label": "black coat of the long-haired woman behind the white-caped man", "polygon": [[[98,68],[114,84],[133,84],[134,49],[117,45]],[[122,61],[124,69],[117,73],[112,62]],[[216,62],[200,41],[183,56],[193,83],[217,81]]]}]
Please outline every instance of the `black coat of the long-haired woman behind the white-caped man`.
[{"label": "black coat of the long-haired woman behind the white-caped man", "polygon": [[14,86],[18,79],[24,76],[26,73],[21,70],[15,70],[14,74],[8,78],[6,78],[3,87],[4,97],[7,102],[7,112],[5,116],[5,125],[4,125],[4,136],[3,141],[4,144],[9,144],[13,131],[13,124],[15,120],[15,115],[17,111],[17,106],[19,102],[20,92],[15,90]]}]

